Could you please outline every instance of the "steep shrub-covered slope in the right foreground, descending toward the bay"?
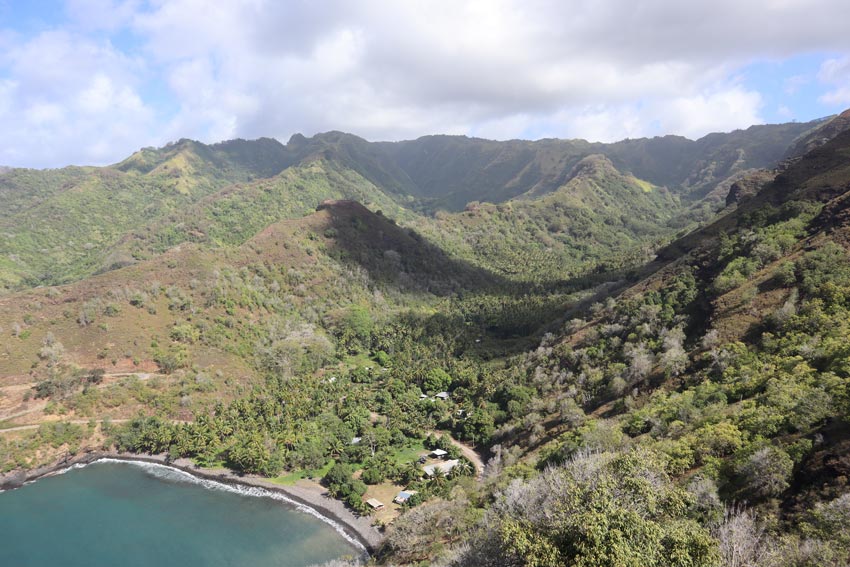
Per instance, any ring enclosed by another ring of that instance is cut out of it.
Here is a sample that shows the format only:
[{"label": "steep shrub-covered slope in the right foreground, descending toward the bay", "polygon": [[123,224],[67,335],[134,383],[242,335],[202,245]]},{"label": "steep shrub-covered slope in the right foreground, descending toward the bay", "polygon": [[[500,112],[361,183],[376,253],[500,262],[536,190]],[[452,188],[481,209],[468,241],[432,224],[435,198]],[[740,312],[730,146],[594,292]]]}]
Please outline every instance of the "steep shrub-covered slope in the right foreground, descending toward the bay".
[{"label": "steep shrub-covered slope in the right foreground, descending toward the bay", "polygon": [[446,562],[846,564],[848,198],[845,129],[518,357],[511,387],[531,392],[493,439],[494,473],[523,480],[494,482]]}]

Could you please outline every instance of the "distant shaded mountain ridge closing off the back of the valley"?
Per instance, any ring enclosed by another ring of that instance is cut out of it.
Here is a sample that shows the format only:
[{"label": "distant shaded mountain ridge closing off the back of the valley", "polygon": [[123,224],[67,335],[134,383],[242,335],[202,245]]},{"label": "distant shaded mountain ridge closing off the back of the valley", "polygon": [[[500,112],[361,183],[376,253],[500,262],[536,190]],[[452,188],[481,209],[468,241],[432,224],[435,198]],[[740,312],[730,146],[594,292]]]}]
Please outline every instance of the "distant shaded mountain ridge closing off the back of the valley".
[{"label": "distant shaded mountain ridge closing off the back of the valley", "polygon": [[331,132],[298,138],[288,147],[341,159],[376,185],[413,196],[422,210],[458,211],[470,201],[499,203],[554,191],[579,161],[593,154],[606,156],[624,173],[699,199],[736,172],[772,167],[799,136],[822,125],[814,121],[752,126],[697,141],[665,136],[613,144],[552,139],[496,142],[465,136],[369,143]]}]

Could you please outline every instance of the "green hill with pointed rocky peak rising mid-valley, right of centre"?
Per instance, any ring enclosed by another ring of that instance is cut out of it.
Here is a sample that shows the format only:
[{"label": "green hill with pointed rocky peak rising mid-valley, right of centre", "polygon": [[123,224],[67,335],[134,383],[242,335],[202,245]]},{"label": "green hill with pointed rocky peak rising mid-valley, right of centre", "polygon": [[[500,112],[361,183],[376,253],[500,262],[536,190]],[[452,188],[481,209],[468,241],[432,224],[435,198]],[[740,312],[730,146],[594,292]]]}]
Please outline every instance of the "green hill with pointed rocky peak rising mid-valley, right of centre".
[{"label": "green hill with pointed rocky peak rising mid-valley, right of centre", "polygon": [[584,158],[543,196],[471,203],[416,221],[429,239],[506,278],[553,283],[645,261],[681,210],[663,187],[624,175],[600,155]]}]

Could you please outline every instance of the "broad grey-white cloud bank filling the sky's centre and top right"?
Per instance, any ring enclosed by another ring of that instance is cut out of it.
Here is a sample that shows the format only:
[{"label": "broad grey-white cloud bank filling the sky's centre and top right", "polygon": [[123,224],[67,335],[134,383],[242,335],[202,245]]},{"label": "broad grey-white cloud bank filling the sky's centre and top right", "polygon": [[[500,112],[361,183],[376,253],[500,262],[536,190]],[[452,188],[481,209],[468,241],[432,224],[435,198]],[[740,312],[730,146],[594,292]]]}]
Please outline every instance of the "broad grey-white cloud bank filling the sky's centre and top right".
[{"label": "broad grey-white cloud bank filling the sky's centre and top right", "polygon": [[215,67],[213,88],[229,96],[214,112],[185,105],[179,119],[204,139],[222,122],[245,137],[616,139],[761,122],[758,93],[729,87],[730,75],[754,58],[850,48],[842,13],[826,0],[217,2],[211,13],[176,0],[137,23],[172,81],[187,59]]}]

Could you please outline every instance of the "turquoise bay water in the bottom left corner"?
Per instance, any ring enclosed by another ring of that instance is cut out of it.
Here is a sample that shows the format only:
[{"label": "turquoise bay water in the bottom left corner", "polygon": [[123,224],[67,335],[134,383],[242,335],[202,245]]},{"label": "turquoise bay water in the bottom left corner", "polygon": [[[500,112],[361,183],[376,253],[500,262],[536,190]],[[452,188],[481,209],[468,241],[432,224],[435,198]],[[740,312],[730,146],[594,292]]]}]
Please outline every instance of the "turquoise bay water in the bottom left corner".
[{"label": "turquoise bay water in the bottom left corner", "polygon": [[360,553],[272,498],[155,465],[98,462],[0,494],[0,565],[306,566]]}]

